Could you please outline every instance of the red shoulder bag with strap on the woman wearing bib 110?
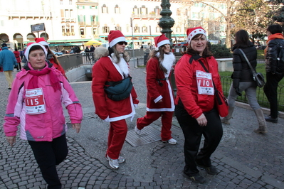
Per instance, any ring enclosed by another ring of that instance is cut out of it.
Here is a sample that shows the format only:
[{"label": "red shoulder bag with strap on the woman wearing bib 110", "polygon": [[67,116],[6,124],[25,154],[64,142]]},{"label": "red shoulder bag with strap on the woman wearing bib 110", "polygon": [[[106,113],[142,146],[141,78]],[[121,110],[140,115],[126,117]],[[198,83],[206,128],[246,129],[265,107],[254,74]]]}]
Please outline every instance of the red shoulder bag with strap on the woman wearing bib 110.
[{"label": "red shoulder bag with strap on the woman wearing bib 110", "polygon": [[[209,72],[201,60],[199,60],[199,63],[202,65],[202,67],[204,68],[206,72]],[[212,78],[212,82],[214,86],[215,104],[218,109],[219,115],[220,117],[226,117],[228,115],[228,101],[226,97],[224,97],[224,95],[219,90],[217,90],[214,84],[213,78]]]}]

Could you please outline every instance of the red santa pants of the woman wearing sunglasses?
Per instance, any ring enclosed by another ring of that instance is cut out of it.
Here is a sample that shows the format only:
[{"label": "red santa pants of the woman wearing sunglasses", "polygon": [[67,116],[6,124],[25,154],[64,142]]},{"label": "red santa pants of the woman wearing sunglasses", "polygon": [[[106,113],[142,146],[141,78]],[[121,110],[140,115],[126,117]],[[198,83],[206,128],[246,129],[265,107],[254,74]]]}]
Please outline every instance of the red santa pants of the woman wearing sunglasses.
[{"label": "red santa pants of the woman wearing sunglasses", "polygon": [[110,122],[110,131],[107,141],[107,156],[117,159],[127,135],[127,124],[125,119]]}]

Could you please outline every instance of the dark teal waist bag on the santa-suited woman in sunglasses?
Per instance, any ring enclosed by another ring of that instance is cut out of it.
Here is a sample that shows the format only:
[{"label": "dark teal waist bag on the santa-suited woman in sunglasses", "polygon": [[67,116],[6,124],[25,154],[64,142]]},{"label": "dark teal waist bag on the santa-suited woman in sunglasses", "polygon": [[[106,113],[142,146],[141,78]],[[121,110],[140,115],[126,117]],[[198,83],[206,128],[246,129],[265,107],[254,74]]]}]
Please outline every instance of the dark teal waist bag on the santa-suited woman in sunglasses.
[{"label": "dark teal waist bag on the santa-suited woman in sunglasses", "polygon": [[105,82],[105,92],[107,97],[114,101],[120,101],[130,96],[132,90],[132,77],[128,76],[118,82]]}]

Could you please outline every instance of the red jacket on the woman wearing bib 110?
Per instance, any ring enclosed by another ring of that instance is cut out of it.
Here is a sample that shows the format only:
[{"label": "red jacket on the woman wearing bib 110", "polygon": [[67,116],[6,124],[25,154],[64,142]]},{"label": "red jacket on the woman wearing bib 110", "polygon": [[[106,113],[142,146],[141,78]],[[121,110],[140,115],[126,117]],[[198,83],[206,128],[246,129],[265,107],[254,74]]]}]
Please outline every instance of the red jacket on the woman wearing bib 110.
[{"label": "red jacket on the woman wearing bib 110", "polygon": [[209,112],[213,109],[215,102],[214,95],[199,95],[198,93],[196,70],[206,72],[199,63],[199,60],[204,63],[211,73],[217,90],[223,93],[218,72],[218,63],[213,56],[201,58],[199,55],[183,55],[174,68],[174,76],[177,84],[177,98],[175,99],[175,103],[178,104],[179,99],[181,99],[184,109],[195,119],[203,112]]}]

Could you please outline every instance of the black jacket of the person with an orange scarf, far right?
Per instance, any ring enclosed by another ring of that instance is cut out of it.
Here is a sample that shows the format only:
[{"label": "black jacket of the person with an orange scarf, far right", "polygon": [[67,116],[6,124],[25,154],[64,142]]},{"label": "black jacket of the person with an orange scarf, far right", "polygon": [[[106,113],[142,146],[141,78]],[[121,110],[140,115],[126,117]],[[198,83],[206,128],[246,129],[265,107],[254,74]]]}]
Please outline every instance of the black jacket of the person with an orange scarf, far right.
[{"label": "black jacket of the person with an orange scarf, far right", "polygon": [[266,72],[284,72],[284,62],[278,61],[278,54],[280,52],[280,46],[284,48],[284,40],[275,38],[268,42],[267,51],[265,54],[265,70]]}]

